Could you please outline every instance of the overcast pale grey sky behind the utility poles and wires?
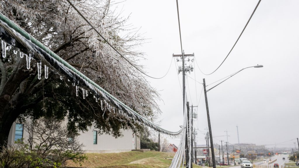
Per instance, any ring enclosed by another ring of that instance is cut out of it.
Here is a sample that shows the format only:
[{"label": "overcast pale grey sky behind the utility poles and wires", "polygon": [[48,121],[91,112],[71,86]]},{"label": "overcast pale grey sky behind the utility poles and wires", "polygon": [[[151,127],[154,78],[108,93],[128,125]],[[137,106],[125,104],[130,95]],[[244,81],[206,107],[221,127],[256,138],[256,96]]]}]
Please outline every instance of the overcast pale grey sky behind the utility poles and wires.
[{"label": "overcast pale grey sky behind the utility poles and wires", "polygon": [[[248,68],[208,92],[213,136],[226,135],[229,143],[274,144],[299,137],[299,1],[262,0],[239,42],[224,64],[214,71],[228,54],[249,19],[258,0],[179,0],[182,45],[185,54],[195,54],[194,71],[188,76],[202,83],[213,83],[242,68]],[[116,6],[113,6],[114,8]],[[118,4],[122,16],[131,14],[129,23],[141,28],[149,38],[137,50],[147,54],[141,61],[150,76],[163,76],[172,54],[181,54],[175,0],[127,0]],[[163,79],[150,79],[159,90],[161,126],[177,131],[182,124],[181,62],[173,60]],[[204,144],[207,128],[202,84],[187,77],[187,97],[195,110],[199,130],[197,143]],[[213,85],[210,85],[213,86]],[[207,88],[210,88],[208,86]],[[199,101],[200,100],[200,101]],[[199,103],[198,103],[199,102]],[[178,140],[178,139],[177,139]],[[215,143],[226,137],[214,138]],[[176,140],[171,143],[178,144]],[[277,147],[295,147],[292,140]],[[297,145],[297,144],[296,144]],[[297,146],[298,148],[298,146]]]}]

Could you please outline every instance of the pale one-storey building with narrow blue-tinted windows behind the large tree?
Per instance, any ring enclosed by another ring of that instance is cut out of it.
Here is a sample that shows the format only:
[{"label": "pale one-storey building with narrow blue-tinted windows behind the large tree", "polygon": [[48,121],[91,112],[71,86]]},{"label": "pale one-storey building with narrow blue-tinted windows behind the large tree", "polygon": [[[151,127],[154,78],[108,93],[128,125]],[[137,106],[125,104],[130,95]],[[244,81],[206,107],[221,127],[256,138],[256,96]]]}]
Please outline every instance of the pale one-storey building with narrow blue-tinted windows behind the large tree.
[{"label": "pale one-storey building with narrow blue-tinted windows behind the large tree", "polygon": [[[66,124],[66,120],[63,124]],[[132,130],[122,130],[122,134],[123,136],[119,138],[107,134],[98,135],[98,129],[92,126],[87,132],[80,132],[77,138],[80,143],[83,143],[83,150],[86,153],[118,153],[140,149],[140,138]],[[29,135],[23,123],[14,122],[7,143],[13,145],[17,139],[28,139]]]}]

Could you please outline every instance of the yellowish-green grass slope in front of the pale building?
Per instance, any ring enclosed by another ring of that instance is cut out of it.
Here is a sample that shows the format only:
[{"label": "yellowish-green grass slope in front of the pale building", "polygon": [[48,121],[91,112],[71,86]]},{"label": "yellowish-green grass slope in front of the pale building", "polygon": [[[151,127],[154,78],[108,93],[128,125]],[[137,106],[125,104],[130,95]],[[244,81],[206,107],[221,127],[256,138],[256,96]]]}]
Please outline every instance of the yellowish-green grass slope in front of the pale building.
[{"label": "yellowish-green grass slope in front of the pale building", "polygon": [[[166,152],[121,152],[121,153],[86,153],[88,159],[82,167],[95,168],[164,168],[169,167],[174,153]],[[79,164],[68,161],[67,167],[80,167]],[[194,168],[200,166],[194,165]]]}]

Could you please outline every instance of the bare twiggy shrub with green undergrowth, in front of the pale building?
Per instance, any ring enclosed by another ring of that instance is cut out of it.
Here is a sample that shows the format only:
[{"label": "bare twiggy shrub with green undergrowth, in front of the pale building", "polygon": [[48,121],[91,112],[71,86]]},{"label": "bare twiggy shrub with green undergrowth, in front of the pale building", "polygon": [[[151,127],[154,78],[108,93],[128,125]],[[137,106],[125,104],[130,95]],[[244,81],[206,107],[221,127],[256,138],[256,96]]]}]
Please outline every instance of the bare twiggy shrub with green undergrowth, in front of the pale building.
[{"label": "bare twiggy shrub with green undergrowth, in front of the pale building", "polygon": [[[28,139],[16,145],[4,147],[0,162],[4,167],[60,167],[67,160],[82,162],[83,144],[77,135],[70,133],[62,122],[55,118],[27,120],[24,129],[30,132]],[[1,166],[0,166],[1,167]]]}]

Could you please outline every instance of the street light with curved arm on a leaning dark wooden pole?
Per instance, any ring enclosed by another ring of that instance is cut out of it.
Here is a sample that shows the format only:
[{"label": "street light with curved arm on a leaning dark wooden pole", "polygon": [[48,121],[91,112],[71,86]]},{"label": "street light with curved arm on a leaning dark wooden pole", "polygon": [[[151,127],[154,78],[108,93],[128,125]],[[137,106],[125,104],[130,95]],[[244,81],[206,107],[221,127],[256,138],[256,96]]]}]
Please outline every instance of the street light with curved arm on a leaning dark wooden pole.
[{"label": "street light with curved arm on a leaning dark wooden pole", "polygon": [[[255,65],[255,66],[250,66],[250,67],[246,67],[241,69],[240,71],[237,71],[236,73],[232,74],[230,77],[228,77],[227,79],[225,79],[224,81],[228,80],[229,78],[231,78],[232,76],[234,76],[235,74],[241,72],[244,69],[247,68],[261,68],[263,67],[263,65]],[[222,81],[222,82],[224,82]],[[217,85],[215,85],[212,88],[215,88],[216,86],[218,86],[219,84],[221,84],[222,82],[218,83]],[[207,116],[208,116],[208,126],[209,126],[209,134],[210,134],[210,145],[211,145],[211,153],[212,153],[212,162],[213,162],[213,168],[216,168],[216,163],[215,163],[215,154],[214,154],[214,145],[213,145],[213,136],[212,136],[212,130],[211,130],[211,122],[210,122],[210,113],[209,113],[209,106],[208,106],[208,97],[207,97],[207,92],[210,91],[212,88],[206,90],[206,85],[205,85],[205,78],[203,79],[203,85],[204,85],[204,91],[205,91],[205,103],[206,103],[206,109],[207,109]]]}]

